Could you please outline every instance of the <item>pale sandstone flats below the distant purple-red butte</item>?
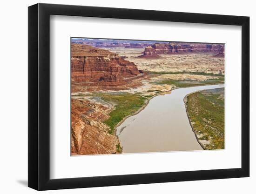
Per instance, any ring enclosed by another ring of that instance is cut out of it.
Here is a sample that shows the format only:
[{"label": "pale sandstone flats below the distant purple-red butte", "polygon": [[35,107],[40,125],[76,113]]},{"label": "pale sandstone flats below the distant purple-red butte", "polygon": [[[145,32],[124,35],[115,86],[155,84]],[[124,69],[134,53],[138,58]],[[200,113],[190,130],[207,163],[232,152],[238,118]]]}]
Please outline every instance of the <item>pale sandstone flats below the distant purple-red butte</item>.
[{"label": "pale sandstone flats below the distant purple-red butte", "polygon": [[161,58],[138,58],[144,49],[113,48],[112,52],[126,56],[138,69],[149,72],[201,72],[205,74],[224,74],[224,58],[216,53],[159,54]]}]

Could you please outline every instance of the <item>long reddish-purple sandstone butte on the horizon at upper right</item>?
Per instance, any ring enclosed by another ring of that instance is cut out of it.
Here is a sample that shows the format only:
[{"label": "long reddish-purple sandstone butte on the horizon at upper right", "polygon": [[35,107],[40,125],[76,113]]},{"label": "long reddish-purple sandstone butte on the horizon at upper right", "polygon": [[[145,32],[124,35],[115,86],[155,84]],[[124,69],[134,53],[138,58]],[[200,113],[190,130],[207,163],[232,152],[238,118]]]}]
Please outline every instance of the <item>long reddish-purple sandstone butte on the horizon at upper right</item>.
[{"label": "long reddish-purple sandstone butte on the horizon at upper right", "polygon": [[217,53],[216,56],[224,57],[223,44],[153,44],[145,48],[140,58],[159,58],[159,54],[183,54],[183,53]]}]

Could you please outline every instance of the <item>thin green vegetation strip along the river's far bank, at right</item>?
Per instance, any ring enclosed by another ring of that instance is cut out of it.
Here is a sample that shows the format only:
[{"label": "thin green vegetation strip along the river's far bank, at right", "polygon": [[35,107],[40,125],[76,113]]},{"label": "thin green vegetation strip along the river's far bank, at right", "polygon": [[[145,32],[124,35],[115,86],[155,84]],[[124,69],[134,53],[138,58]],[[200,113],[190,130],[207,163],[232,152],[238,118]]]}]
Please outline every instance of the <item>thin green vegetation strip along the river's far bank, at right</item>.
[{"label": "thin green vegetation strip along the river's far bank, at right", "polygon": [[202,85],[211,85],[211,84],[222,84],[224,78],[220,79],[210,79],[205,81],[196,81],[196,80],[162,80],[157,82],[158,84],[168,84],[175,85],[176,87],[192,87],[192,86],[202,86]]}]

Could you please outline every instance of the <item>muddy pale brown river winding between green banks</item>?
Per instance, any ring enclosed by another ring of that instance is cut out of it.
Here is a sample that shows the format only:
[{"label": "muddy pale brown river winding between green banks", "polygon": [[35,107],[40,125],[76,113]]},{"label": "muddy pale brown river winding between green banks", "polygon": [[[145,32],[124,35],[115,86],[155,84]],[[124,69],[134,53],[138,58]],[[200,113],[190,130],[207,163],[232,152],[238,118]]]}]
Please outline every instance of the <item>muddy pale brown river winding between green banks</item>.
[{"label": "muddy pale brown river winding between green banks", "polygon": [[183,99],[196,91],[220,87],[224,84],[179,88],[151,99],[140,113],[116,128],[123,153],[202,150],[189,124]]}]

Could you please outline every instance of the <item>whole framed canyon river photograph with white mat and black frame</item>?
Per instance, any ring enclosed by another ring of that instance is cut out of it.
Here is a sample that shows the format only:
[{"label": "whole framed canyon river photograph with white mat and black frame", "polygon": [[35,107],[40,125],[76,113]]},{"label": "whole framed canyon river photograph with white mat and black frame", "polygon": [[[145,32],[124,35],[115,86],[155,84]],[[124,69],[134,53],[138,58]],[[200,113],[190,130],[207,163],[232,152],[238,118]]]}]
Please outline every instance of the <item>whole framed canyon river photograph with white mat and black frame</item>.
[{"label": "whole framed canyon river photograph with white mat and black frame", "polygon": [[249,176],[249,17],[28,7],[28,187]]}]

